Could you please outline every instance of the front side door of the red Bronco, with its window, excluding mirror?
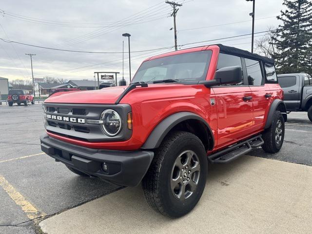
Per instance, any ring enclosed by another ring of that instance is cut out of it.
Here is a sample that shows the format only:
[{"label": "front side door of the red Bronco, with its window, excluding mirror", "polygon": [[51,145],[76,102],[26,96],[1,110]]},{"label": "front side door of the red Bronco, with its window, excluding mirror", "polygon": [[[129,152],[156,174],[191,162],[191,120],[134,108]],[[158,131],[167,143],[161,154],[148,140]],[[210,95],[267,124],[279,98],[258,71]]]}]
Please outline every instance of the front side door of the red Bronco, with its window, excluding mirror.
[{"label": "front side door of the red Bronco, with its window, excluding mirror", "polygon": [[[244,60],[228,54],[219,54],[217,69],[229,66],[242,67]],[[214,86],[216,98],[218,142],[217,147],[228,145],[253,132],[252,91],[242,74],[242,82],[235,85]]]}]

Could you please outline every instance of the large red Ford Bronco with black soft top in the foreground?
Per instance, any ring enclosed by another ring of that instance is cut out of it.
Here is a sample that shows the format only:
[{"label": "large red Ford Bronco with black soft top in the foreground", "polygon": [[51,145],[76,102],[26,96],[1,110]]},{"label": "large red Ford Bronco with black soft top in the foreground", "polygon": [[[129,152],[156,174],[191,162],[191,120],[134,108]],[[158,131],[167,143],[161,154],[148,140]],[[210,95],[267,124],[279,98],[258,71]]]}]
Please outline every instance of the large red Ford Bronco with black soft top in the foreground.
[{"label": "large red Ford Bronco with black soft top in the foreground", "polygon": [[179,217],[201,197],[208,161],[283,144],[286,107],[274,61],[223,45],[146,59],[129,86],[45,100],[41,149],[81,176],[142,187]]}]

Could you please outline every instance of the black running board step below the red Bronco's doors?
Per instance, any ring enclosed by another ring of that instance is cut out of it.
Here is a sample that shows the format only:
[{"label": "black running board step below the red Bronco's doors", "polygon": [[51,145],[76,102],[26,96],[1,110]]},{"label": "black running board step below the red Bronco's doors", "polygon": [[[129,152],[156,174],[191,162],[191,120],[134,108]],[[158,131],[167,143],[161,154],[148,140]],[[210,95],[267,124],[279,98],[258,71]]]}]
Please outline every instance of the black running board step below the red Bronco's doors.
[{"label": "black running board step below the red Bronco's doors", "polygon": [[256,137],[252,137],[252,138],[249,138],[248,140],[232,145],[215,154],[212,154],[208,156],[208,160],[211,163],[220,163],[220,164],[228,163],[242,155],[247,154],[253,148],[257,148],[263,144],[264,144],[264,141],[261,135],[258,135]]}]

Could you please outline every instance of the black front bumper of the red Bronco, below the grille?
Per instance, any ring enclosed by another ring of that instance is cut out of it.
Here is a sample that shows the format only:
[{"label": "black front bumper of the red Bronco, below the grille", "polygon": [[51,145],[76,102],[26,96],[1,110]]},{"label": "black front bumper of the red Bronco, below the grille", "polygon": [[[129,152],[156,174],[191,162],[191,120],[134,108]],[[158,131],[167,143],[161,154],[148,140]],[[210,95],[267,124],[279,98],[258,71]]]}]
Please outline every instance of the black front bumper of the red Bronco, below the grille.
[{"label": "black front bumper of the red Bronco, below the grille", "polygon": [[[41,150],[47,155],[90,176],[123,186],[137,186],[147,172],[154,152],[111,151],[81,147],[49,137],[40,136]],[[107,171],[102,169],[103,163]]]}]

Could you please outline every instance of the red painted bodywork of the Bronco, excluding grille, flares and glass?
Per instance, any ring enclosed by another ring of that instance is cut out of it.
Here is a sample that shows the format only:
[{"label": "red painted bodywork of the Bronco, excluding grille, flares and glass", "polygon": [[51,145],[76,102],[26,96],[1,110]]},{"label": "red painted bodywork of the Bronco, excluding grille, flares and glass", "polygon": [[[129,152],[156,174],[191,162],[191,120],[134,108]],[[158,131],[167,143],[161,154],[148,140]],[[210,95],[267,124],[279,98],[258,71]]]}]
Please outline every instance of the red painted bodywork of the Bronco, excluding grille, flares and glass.
[{"label": "red painted bodywork of the Bronco, excluding grille, flares and glass", "polygon": [[[170,52],[146,60],[182,53],[212,50],[206,80],[215,76],[219,47],[202,46]],[[47,103],[114,104],[126,86],[109,87],[95,91],[64,93],[45,100]],[[265,94],[272,94],[265,98]],[[244,96],[252,96],[244,101]],[[215,105],[211,105],[211,98]],[[223,86],[207,88],[204,85],[183,85],[178,83],[148,84],[130,91],[120,103],[130,104],[133,113],[133,134],[127,141],[86,142],[48,133],[69,143],[96,149],[136,150],[139,149],[153,129],[166,117],[177,112],[192,112],[202,117],[211,127],[215,138],[214,150],[226,147],[238,140],[250,137],[264,130],[269,107],[274,99],[282,99],[278,84],[264,86]],[[209,152],[210,153],[210,152]]]}]

